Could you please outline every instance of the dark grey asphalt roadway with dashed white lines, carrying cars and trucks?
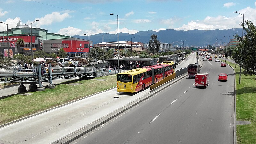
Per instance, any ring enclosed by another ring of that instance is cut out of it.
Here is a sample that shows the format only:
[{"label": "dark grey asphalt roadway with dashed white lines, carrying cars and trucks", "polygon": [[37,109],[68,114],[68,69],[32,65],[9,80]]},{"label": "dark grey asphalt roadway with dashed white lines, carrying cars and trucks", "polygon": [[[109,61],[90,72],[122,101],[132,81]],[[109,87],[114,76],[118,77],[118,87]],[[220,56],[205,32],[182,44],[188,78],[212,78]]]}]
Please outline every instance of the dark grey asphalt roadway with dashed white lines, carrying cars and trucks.
[{"label": "dark grey asphalt roadway with dashed white lines, carrying cars and trucks", "polygon": [[214,60],[201,72],[209,73],[206,89],[184,78],[73,143],[233,143],[233,70]]}]

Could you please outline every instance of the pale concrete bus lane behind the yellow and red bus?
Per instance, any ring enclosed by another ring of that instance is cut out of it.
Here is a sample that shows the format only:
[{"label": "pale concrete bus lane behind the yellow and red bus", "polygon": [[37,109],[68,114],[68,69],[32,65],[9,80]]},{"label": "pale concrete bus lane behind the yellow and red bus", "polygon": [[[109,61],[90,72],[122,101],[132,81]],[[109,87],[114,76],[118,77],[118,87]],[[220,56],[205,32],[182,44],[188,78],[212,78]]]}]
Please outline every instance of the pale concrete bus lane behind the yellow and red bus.
[{"label": "pale concrete bus lane behind the yellow and red bus", "polygon": [[117,92],[116,89],[98,93],[1,127],[0,141],[2,143],[52,143],[147,94],[149,94],[149,88],[132,94]]}]

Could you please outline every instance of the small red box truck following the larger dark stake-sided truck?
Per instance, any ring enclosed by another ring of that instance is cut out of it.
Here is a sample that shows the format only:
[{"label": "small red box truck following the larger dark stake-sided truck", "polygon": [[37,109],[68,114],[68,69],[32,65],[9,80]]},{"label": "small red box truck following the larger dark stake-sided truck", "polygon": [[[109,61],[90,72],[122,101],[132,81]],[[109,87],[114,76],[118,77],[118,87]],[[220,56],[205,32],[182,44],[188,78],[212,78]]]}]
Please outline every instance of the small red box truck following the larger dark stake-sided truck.
[{"label": "small red box truck following the larger dark stake-sided truck", "polygon": [[209,74],[208,73],[197,73],[195,76],[195,86],[203,86],[206,88],[208,86],[209,82]]}]

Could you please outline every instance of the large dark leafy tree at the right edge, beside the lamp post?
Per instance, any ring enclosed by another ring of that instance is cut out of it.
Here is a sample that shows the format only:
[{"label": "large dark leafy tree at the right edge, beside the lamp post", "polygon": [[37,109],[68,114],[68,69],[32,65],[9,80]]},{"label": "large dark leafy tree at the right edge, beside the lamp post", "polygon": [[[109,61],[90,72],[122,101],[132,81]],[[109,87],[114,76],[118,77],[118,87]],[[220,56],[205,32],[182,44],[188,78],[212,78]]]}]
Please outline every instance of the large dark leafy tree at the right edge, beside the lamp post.
[{"label": "large dark leafy tree at the right edge, beside the lamp post", "polygon": [[241,24],[244,27],[245,38],[242,39],[238,34],[234,36],[240,42],[233,51],[233,59],[242,66],[246,76],[256,76],[256,26],[250,20],[245,20],[245,25],[247,28]]}]

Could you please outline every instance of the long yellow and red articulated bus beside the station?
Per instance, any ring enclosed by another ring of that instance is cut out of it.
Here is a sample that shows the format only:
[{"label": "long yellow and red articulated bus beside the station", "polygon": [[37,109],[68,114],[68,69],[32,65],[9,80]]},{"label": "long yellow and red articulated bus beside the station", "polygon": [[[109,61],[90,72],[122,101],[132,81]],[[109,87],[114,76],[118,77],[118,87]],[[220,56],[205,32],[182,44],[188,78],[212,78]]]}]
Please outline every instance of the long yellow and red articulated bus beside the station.
[{"label": "long yellow and red articulated bus beside the station", "polygon": [[117,92],[138,92],[175,72],[174,62],[136,68],[117,74]]}]

